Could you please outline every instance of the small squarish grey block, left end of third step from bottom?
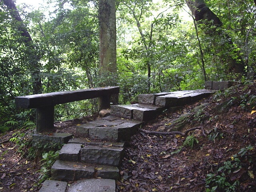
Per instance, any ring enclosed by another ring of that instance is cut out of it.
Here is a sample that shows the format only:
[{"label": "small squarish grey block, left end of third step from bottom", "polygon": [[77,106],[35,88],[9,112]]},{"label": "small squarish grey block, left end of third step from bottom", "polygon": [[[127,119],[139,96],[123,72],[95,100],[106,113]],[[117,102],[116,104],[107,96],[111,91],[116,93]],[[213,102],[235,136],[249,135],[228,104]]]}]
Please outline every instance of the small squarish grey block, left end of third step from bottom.
[{"label": "small squarish grey block, left end of third step from bottom", "polygon": [[60,160],[79,161],[81,144],[65,144],[59,153]]}]

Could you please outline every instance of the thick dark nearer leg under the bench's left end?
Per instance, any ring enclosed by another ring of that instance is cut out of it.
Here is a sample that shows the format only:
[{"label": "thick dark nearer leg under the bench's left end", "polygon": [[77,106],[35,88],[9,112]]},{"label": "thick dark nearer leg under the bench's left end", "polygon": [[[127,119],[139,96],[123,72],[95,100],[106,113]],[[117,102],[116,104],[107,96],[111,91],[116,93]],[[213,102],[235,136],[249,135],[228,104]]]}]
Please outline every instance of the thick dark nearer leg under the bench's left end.
[{"label": "thick dark nearer leg under the bench's left end", "polygon": [[54,128],[54,106],[36,108],[36,132],[47,132]]}]

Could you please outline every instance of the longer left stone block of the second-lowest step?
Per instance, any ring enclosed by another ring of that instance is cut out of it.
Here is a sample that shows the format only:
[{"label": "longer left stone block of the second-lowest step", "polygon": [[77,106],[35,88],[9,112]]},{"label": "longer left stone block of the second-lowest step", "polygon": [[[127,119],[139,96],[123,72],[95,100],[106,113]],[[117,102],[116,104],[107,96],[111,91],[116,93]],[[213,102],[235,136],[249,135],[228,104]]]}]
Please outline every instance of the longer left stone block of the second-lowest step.
[{"label": "longer left stone block of the second-lowest step", "polygon": [[56,160],[52,166],[53,180],[79,180],[81,178],[93,178],[94,167],[81,162],[67,162]]}]

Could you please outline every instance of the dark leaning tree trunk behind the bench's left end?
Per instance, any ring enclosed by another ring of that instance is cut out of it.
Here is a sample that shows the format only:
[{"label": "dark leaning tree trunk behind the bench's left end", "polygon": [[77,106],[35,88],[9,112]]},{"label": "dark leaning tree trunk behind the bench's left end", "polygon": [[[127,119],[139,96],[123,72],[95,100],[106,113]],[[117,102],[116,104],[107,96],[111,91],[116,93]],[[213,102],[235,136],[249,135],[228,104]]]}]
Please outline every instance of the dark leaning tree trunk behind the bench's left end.
[{"label": "dark leaning tree trunk behind the bench's left end", "polygon": [[42,82],[40,77],[40,64],[38,63],[38,56],[36,54],[36,45],[33,43],[33,40],[23,23],[20,14],[14,4],[13,0],[3,0],[4,4],[10,11],[10,15],[12,19],[16,21],[16,27],[21,32],[21,35],[24,37],[24,44],[28,47],[28,62],[29,62],[29,69],[32,78],[32,87],[33,87],[33,94],[42,93]]}]

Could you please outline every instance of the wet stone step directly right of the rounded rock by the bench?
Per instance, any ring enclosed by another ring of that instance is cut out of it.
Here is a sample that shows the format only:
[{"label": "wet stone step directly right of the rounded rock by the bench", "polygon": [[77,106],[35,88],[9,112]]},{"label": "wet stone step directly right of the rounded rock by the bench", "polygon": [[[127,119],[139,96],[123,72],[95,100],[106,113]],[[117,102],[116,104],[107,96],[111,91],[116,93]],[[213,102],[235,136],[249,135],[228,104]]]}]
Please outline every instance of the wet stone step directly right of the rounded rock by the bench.
[{"label": "wet stone step directly right of the rounded rock by the bench", "polygon": [[114,105],[111,106],[110,114],[139,121],[149,121],[154,119],[162,109],[161,106],[151,104]]}]

